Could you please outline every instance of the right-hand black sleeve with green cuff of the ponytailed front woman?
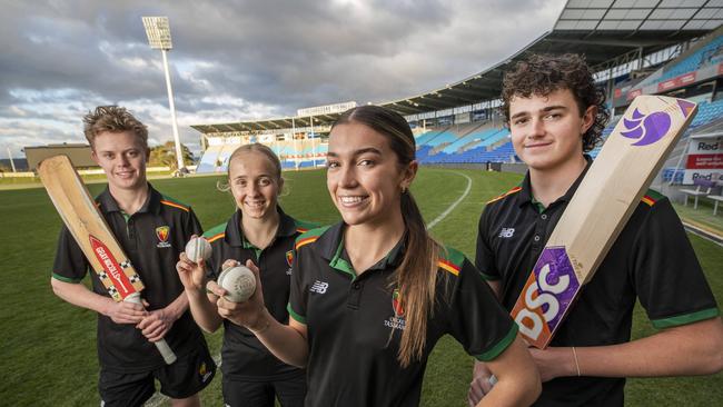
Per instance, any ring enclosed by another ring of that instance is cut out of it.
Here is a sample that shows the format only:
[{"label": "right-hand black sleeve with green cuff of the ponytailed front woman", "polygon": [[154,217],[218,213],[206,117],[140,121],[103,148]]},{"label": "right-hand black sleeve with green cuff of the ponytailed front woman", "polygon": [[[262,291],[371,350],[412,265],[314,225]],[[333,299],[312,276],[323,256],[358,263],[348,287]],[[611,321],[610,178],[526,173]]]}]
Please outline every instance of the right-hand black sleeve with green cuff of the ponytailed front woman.
[{"label": "right-hand black sleeve with green cuff of the ponytailed front woman", "polygon": [[469,355],[478,360],[493,360],[515,340],[517,325],[467,259],[452,295],[449,334]]}]

